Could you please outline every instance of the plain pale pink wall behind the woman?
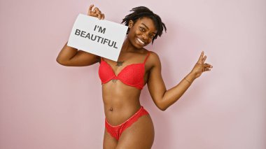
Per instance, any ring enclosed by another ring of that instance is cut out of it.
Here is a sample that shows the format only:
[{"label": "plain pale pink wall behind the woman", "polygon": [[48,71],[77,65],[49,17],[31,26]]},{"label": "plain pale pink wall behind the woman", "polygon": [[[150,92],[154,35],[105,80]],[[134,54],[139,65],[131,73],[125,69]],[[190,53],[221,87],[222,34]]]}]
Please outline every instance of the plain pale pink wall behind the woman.
[{"label": "plain pale pink wall behind the woman", "polygon": [[90,3],[113,22],[135,6],[162,17],[167,34],[147,48],[160,55],[167,89],[190,72],[202,50],[214,66],[167,111],[144,88],[153,149],[266,148],[266,1],[1,0],[1,149],[102,148],[99,64],[55,61]]}]

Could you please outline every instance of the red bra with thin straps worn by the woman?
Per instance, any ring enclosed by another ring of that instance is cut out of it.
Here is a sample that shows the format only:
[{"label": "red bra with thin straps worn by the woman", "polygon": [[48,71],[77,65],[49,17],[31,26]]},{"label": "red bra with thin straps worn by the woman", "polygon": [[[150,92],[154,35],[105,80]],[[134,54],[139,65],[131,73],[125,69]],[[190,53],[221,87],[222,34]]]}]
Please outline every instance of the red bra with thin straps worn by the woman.
[{"label": "red bra with thin straps worn by the woman", "polygon": [[[150,52],[148,51],[148,55]],[[118,76],[113,72],[112,67],[101,58],[101,64],[99,66],[99,78],[102,80],[102,84],[108,83],[110,80],[120,80],[125,85],[136,87],[142,90],[144,87],[144,75],[145,75],[145,63],[148,59],[146,56],[143,63],[129,64],[118,73]]]}]

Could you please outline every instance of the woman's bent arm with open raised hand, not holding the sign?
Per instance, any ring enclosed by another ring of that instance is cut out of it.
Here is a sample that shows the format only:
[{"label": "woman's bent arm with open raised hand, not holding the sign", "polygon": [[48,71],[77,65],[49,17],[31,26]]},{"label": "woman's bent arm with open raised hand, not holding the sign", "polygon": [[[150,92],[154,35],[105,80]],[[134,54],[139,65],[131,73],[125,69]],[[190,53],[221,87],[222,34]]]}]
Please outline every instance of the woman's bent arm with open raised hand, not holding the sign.
[{"label": "woman's bent arm with open raised hand, not holding the sign", "polygon": [[152,53],[151,57],[153,66],[147,82],[148,90],[155,105],[162,111],[165,111],[174,104],[186,92],[193,81],[201,76],[202,72],[211,71],[213,67],[210,64],[204,63],[207,56],[204,56],[204,52],[202,52],[193,70],[178,85],[166,90],[165,83],[162,80],[160,59],[155,52]]}]

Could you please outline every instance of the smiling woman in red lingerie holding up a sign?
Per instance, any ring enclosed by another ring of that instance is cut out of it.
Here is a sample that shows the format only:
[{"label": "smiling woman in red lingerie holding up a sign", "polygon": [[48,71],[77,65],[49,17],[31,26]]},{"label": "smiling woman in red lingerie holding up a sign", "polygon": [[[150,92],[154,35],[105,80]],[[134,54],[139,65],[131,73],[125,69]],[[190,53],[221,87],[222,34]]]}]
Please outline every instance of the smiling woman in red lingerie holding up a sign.
[{"label": "smiling woman in red lingerie holding up a sign", "polygon": [[[88,14],[104,19],[99,8],[90,6]],[[160,17],[146,7],[133,8],[123,22],[129,27],[118,62],[92,55],[64,45],[57,62],[64,66],[90,66],[99,62],[102,80],[104,113],[106,115],[104,148],[151,148],[154,139],[153,122],[139,102],[141,89],[147,83],[155,105],[165,111],[174,104],[195,78],[212,66],[204,63],[201,53],[193,70],[181,82],[166,90],[162,80],[161,64],[155,52],[144,46],[162,35],[165,24]]]}]

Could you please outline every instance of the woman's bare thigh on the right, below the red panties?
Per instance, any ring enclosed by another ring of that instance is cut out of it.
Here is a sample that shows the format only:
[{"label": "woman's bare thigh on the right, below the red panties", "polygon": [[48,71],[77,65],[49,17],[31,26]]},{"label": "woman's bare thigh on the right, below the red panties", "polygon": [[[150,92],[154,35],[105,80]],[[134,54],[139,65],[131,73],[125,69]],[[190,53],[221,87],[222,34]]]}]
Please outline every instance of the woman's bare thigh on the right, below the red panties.
[{"label": "woman's bare thigh on the right, below the red panties", "polygon": [[116,149],[151,149],[153,140],[153,121],[150,115],[143,115],[121,134]]}]

